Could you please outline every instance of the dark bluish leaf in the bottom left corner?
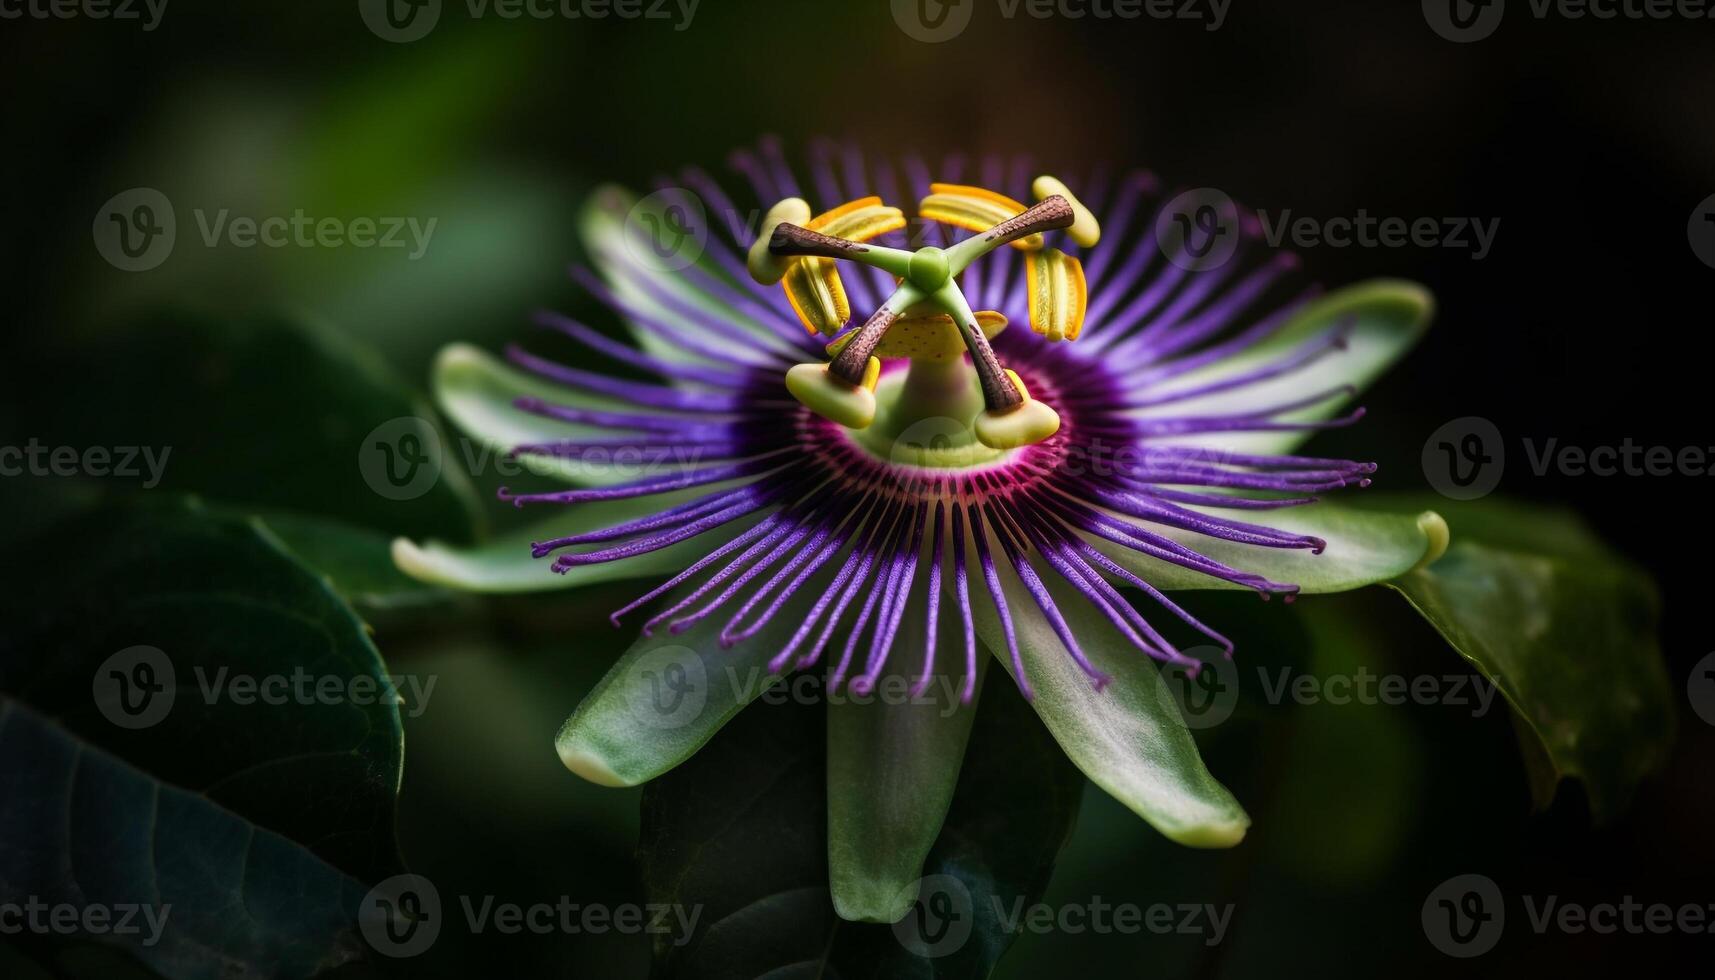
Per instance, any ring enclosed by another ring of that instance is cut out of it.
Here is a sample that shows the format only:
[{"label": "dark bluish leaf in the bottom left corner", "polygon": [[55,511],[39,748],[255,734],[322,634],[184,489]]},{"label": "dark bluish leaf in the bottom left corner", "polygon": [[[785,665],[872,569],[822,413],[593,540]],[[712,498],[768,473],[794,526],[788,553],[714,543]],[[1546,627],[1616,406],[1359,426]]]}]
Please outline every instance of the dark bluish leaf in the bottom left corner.
[{"label": "dark bluish leaf in the bottom left corner", "polygon": [[163,977],[317,977],[362,954],[364,886],[305,846],[9,695],[0,757],[0,901],[106,908],[115,929],[87,937]]}]

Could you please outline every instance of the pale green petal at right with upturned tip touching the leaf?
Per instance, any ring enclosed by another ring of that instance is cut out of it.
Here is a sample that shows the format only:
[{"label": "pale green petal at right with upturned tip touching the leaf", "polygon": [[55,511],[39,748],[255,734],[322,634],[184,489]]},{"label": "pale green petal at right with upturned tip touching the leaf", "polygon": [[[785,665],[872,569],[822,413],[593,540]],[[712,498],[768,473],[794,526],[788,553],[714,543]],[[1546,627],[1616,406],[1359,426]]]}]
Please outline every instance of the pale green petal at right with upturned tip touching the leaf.
[{"label": "pale green petal at right with upturned tip touching the leaf", "polygon": [[[1278,511],[1240,511],[1235,517],[1247,523],[1321,537],[1327,547],[1322,554],[1312,554],[1309,549],[1261,547],[1149,522],[1137,523],[1223,565],[1298,585],[1307,594],[1345,592],[1396,578],[1439,556],[1447,541],[1446,522],[1432,510],[1384,513],[1322,501]],[[1106,539],[1091,541],[1156,589],[1243,589]]]}]

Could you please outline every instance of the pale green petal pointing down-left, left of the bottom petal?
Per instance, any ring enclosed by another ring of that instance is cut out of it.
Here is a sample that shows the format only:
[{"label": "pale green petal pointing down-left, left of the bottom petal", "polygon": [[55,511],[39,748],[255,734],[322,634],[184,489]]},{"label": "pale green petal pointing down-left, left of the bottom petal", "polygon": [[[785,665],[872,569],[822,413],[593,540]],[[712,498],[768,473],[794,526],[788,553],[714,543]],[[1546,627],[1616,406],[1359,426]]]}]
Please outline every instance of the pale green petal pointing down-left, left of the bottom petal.
[{"label": "pale green petal pointing down-left, left of the bottom petal", "polygon": [[[681,587],[667,602],[689,592]],[[731,649],[717,642],[736,611],[731,604],[679,635],[664,625],[638,638],[561,726],[554,740],[561,762],[600,786],[638,786],[684,762],[779,683],[768,659],[813,602],[815,590],[799,589],[760,633]]]}]

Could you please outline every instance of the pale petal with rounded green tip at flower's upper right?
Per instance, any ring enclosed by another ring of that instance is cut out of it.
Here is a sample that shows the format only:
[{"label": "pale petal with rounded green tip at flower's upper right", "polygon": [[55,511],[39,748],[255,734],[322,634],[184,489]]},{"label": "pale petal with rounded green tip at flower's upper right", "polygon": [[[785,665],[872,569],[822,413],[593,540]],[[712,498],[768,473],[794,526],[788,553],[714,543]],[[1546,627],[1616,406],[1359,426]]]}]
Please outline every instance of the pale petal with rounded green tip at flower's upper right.
[{"label": "pale petal with rounded green tip at flower's upper right", "polygon": [[[1233,391],[1218,391],[1200,398],[1173,402],[1135,412],[1149,417],[1206,417],[1254,412],[1271,405],[1288,403],[1315,391],[1351,384],[1358,391],[1379,378],[1394,360],[1408,352],[1435,312],[1435,297],[1417,283],[1403,280],[1370,280],[1334,290],[1305,305],[1291,321],[1257,347],[1221,360],[1202,371],[1175,378],[1154,395],[1197,388],[1223,378],[1279,362],[1290,352],[1338,323],[1348,323],[1345,350],[1333,352],[1283,378],[1247,384]],[[1314,422],[1343,412],[1351,398],[1331,398],[1314,408],[1288,412],[1281,420]],[[1303,445],[1314,433],[1199,433],[1161,439],[1168,445],[1206,446],[1233,453],[1288,453]]]}]

